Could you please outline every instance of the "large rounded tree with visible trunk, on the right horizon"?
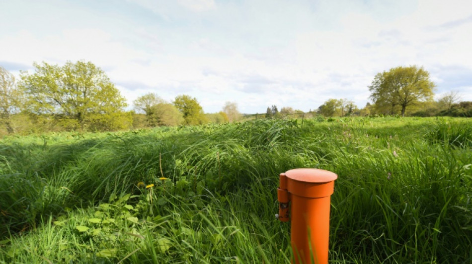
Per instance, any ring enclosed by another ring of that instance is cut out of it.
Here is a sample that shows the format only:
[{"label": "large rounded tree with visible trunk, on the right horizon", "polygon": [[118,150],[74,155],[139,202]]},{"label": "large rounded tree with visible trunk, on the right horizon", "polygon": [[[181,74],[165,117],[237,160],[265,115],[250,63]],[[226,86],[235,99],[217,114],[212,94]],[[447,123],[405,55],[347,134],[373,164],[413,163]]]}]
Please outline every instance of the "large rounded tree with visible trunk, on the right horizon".
[{"label": "large rounded tree with visible trunk, on the right horizon", "polygon": [[392,113],[395,106],[399,106],[401,116],[404,116],[406,107],[431,101],[434,87],[435,84],[429,80],[429,72],[413,65],[378,73],[369,91],[376,106],[388,106]]}]

